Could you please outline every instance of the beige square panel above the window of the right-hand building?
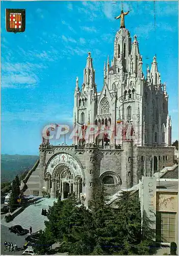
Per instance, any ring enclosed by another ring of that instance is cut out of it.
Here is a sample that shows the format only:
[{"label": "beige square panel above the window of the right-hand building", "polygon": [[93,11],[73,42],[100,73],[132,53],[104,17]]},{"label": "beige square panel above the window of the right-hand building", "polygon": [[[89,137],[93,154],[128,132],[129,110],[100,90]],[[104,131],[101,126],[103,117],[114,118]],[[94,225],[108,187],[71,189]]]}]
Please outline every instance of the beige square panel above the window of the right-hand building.
[{"label": "beige square panel above the window of the right-hand building", "polygon": [[159,211],[177,211],[177,195],[159,194]]}]

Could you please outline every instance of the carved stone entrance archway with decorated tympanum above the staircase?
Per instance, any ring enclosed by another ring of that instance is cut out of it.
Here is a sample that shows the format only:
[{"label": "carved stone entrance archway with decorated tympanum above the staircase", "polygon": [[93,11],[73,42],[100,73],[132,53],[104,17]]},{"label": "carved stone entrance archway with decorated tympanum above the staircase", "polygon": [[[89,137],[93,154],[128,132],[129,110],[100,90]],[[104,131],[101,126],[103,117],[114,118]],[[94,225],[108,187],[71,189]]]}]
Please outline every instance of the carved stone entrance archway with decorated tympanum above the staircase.
[{"label": "carved stone entrance archway with decorated tympanum above the staircase", "polygon": [[81,194],[84,194],[83,169],[80,163],[69,154],[59,153],[49,159],[44,171],[44,180],[48,182],[48,192],[52,198],[61,194],[61,198],[64,199],[74,193],[80,200]]}]

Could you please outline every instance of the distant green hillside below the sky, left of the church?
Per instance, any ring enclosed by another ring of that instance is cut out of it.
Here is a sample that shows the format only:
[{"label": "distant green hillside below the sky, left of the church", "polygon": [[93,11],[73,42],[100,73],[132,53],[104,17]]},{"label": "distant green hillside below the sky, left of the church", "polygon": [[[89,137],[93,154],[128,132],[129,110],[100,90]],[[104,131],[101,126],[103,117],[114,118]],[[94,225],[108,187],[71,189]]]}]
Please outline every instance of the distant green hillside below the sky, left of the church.
[{"label": "distant green hillside below the sky, left of the church", "polygon": [[32,168],[39,156],[31,155],[1,155],[1,182],[12,181],[16,175],[21,175]]}]

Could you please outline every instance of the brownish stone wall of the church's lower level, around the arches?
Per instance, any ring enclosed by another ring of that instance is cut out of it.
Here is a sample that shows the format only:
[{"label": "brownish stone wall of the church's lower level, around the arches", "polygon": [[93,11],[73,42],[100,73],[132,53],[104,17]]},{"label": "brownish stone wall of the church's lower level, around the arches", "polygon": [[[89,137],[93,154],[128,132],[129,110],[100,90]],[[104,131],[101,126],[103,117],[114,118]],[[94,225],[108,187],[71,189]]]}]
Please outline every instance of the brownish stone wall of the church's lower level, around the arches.
[{"label": "brownish stone wall of the church's lower level, around the arches", "polygon": [[[87,152],[88,150],[88,152]],[[91,153],[90,153],[91,150]],[[27,181],[27,193],[33,193],[33,190],[39,190],[39,196],[45,186],[44,170],[51,159],[59,153],[68,154],[76,160],[85,175],[85,191],[88,194],[91,179],[112,176],[114,184],[106,184],[107,192],[110,195],[115,194],[121,188],[130,188],[138,184],[142,178],[142,169],[144,169],[144,157],[157,157],[158,170],[163,166],[173,165],[174,147],[137,147],[132,142],[123,143],[122,149],[101,149],[92,148],[76,149],[75,146],[51,146],[49,148],[40,148],[40,163]],[[92,162],[88,159],[88,154],[92,154]],[[92,166],[92,171],[91,167]],[[90,174],[90,172],[92,174]],[[91,193],[90,193],[91,195]],[[89,196],[90,197],[90,196]]]}]

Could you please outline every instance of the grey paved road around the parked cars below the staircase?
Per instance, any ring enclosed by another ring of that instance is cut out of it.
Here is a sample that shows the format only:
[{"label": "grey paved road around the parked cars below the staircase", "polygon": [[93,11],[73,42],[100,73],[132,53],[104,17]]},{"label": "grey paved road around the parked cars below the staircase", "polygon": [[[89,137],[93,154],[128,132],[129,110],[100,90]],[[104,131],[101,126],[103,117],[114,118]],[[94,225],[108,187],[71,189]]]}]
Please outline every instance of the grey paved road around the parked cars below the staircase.
[{"label": "grey paved road around the parked cars below the staircase", "polygon": [[[4,218],[4,215],[1,216],[1,218]],[[7,226],[1,225],[1,255],[21,255],[24,251],[23,245],[25,243],[25,237],[29,236],[29,234],[25,234],[24,236],[17,236],[14,233],[9,232],[9,228]],[[16,252],[9,251],[4,249],[4,242],[16,242],[17,247],[19,248]]]}]

